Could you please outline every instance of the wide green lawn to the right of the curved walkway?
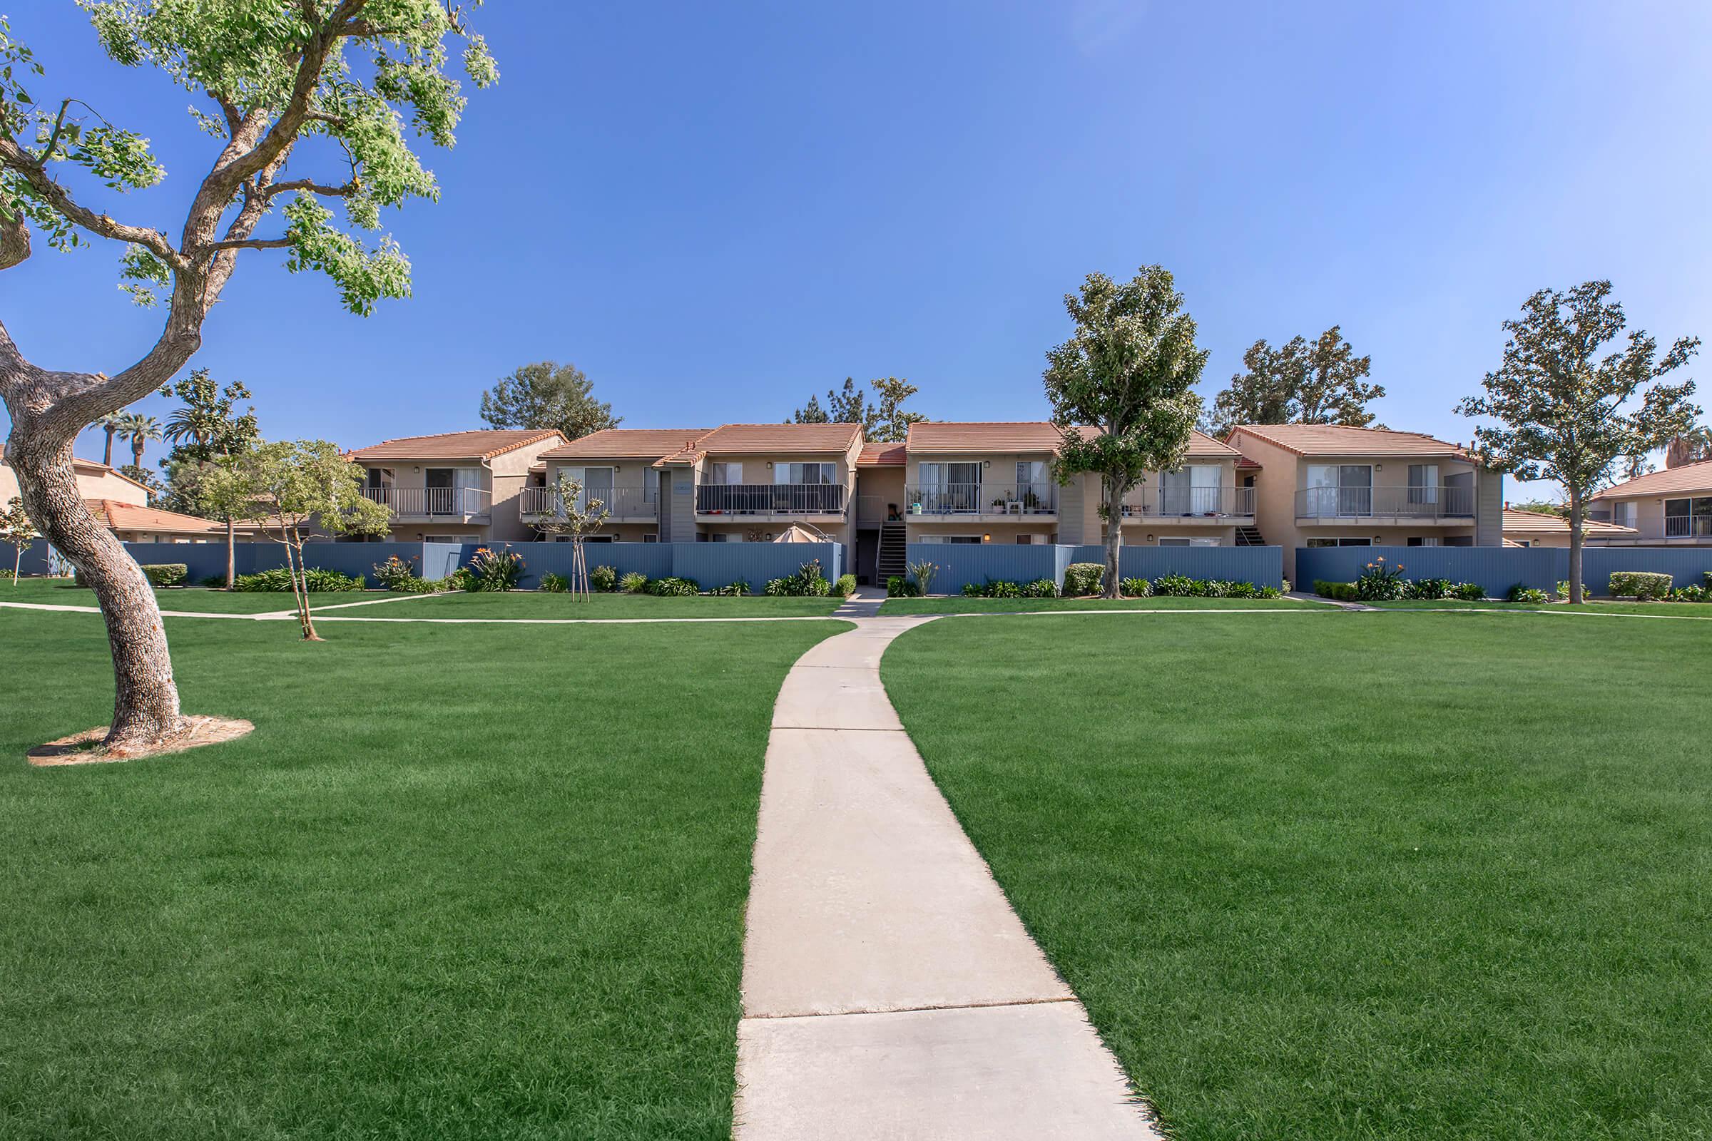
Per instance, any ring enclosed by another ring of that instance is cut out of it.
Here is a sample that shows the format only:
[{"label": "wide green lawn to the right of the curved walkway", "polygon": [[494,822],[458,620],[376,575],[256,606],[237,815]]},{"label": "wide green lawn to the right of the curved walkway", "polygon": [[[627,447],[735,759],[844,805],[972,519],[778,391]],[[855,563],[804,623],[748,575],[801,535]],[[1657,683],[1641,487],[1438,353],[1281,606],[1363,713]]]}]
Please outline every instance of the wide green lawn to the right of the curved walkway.
[{"label": "wide green lawn to the right of the curved walkway", "polygon": [[1712,1136],[1709,671],[1697,623],[1520,614],[931,623],[882,665],[1180,1141]]}]

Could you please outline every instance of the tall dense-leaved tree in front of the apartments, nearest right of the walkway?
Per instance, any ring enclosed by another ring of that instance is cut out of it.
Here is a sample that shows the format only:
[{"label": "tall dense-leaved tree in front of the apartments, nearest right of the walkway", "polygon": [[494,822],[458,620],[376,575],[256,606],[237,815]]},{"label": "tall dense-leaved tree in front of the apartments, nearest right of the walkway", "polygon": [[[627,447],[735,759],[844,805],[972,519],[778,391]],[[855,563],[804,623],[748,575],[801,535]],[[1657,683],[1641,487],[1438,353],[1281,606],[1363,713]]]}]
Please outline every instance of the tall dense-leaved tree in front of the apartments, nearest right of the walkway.
[{"label": "tall dense-leaved tree in front of the apartments, nearest right of the walkway", "polygon": [[1207,351],[1195,346],[1195,318],[1159,265],[1121,286],[1089,274],[1080,296],[1065,294],[1065,310],[1075,335],[1046,354],[1044,373],[1060,438],[1056,472],[1065,484],[1079,472],[1099,474],[1104,594],[1116,599],[1123,498],[1147,472],[1183,465]]}]

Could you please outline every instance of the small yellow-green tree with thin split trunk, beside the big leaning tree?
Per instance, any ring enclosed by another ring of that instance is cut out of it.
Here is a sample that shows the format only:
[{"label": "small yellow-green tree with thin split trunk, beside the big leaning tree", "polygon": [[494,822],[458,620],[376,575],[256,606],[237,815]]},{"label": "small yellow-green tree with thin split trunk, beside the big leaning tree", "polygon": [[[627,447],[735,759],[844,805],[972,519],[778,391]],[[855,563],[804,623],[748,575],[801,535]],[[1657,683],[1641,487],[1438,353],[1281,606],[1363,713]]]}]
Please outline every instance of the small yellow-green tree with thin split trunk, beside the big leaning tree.
[{"label": "small yellow-green tree with thin split trunk, beside the big leaning tree", "polygon": [[241,515],[286,549],[286,575],[298,604],[305,641],[320,641],[310,618],[305,534],[372,535],[385,530],[392,511],[363,494],[366,472],[325,440],[264,443],[217,460],[211,472],[223,503],[241,503]]}]

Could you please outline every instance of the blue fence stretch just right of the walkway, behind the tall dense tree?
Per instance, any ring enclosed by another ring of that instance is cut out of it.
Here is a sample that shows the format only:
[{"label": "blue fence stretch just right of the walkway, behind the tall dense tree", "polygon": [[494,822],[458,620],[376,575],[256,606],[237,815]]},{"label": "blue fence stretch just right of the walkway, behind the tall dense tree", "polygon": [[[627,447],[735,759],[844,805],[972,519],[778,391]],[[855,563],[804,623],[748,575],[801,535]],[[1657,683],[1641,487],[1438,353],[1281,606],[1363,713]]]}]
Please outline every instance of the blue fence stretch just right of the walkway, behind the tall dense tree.
[{"label": "blue fence stretch just right of the walkway, behind the tall dense tree", "polygon": [[[957,594],[964,583],[991,580],[1034,582],[1051,578],[1063,588],[1072,563],[1104,563],[1106,547],[1096,546],[1008,546],[1002,542],[911,542],[909,561],[938,563],[933,590]],[[1121,547],[1123,578],[1224,578],[1277,587],[1284,582],[1282,547]]]}]

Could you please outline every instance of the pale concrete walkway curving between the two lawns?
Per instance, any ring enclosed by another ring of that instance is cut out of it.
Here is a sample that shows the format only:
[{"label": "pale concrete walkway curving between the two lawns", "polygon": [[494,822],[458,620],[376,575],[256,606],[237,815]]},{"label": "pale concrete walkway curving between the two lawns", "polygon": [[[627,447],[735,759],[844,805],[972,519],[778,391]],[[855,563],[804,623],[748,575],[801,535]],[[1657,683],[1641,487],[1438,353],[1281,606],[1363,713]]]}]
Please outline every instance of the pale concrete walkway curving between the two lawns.
[{"label": "pale concrete walkway curving between the two lawns", "polygon": [[933,618],[863,618],[784,679],[738,1028],[740,1141],[1142,1139],[1082,1004],[1010,910],[880,684]]}]

